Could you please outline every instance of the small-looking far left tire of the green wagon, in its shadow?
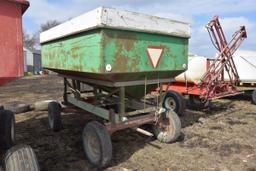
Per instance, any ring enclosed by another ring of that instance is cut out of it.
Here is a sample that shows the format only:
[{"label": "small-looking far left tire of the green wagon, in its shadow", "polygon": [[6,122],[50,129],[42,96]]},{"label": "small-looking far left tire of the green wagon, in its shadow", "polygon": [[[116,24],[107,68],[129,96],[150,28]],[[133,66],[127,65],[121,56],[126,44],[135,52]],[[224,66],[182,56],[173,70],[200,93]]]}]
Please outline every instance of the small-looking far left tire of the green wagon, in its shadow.
[{"label": "small-looking far left tire of the green wagon, in its shadow", "polygon": [[61,106],[58,102],[50,102],[48,104],[48,121],[49,127],[57,132],[62,129],[61,122]]}]

